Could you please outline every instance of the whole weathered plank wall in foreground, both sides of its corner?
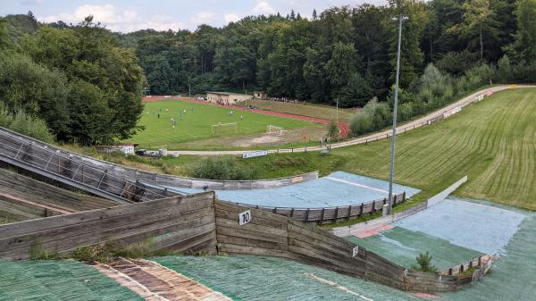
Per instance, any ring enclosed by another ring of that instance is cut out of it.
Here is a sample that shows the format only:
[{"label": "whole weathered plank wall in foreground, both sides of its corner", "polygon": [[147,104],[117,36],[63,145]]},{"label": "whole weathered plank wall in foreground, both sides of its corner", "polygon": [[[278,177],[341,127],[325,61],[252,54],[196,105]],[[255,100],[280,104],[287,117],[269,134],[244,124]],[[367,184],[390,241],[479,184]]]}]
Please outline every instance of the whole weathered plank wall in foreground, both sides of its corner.
[{"label": "whole weathered plank wall in foreground, both sides of its corner", "polygon": [[278,256],[407,291],[457,290],[485,270],[412,272],[313,224],[215,200],[213,192],[120,205],[0,226],[0,257],[25,259],[32,247],[69,253],[103,241],[152,238],[155,249]]}]

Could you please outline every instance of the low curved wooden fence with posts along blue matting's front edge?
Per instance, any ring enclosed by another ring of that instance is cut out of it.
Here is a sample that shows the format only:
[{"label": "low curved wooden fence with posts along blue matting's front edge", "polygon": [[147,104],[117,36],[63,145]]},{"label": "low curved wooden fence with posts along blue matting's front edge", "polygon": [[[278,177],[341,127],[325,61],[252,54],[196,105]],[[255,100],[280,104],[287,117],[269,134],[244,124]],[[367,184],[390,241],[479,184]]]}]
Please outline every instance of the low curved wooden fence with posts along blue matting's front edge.
[{"label": "low curved wooden fence with posts along blue matting's front edge", "polygon": [[[406,192],[394,196],[393,205],[399,205],[406,201]],[[387,204],[387,198],[381,198],[367,203],[358,205],[346,205],[338,207],[323,207],[323,208],[292,208],[292,207],[271,207],[262,205],[248,205],[233,202],[236,205],[253,207],[255,209],[278,213],[288,216],[296,221],[315,222],[318,224],[342,222],[354,220],[359,216],[367,213],[375,213],[383,209],[383,205]]]}]

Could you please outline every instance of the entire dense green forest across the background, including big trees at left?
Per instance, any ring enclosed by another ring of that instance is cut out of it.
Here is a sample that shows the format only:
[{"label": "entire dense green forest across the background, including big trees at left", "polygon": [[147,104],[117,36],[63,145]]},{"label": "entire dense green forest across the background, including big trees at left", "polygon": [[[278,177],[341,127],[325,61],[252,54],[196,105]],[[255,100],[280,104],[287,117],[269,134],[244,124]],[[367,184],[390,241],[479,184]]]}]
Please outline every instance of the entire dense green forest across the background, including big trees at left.
[{"label": "entire dense green forest across the background, including big trees at left", "polygon": [[126,34],[29,13],[1,20],[0,101],[60,140],[104,143],[138,130],[142,93],[262,89],[364,107],[357,135],[389,123],[401,14],[401,120],[490,83],[536,82],[536,0],[402,0]]}]

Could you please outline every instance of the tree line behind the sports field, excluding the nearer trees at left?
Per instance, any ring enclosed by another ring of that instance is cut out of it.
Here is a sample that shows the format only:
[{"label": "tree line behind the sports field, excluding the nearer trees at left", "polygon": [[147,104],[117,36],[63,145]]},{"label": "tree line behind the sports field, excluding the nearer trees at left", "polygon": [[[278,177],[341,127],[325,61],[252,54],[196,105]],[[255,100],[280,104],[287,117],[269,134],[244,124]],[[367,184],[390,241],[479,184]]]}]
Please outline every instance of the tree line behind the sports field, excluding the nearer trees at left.
[{"label": "tree line behind the sports field, excluding the nearer trees at left", "polygon": [[534,0],[416,0],[333,7],[303,18],[251,16],[221,29],[141,30],[118,35],[136,49],[149,93],[262,89],[270,96],[364,106],[390,96],[402,32],[400,85],[415,91],[429,63],[461,76],[507,55],[532,62]]}]

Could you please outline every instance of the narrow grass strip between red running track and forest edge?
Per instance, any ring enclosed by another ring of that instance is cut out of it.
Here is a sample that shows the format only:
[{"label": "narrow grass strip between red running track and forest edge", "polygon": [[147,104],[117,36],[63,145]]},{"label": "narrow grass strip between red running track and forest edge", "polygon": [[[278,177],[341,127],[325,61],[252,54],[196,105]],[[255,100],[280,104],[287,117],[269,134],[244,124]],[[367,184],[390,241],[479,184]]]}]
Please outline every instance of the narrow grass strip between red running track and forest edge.
[{"label": "narrow grass strip between red running track and forest edge", "polygon": [[[337,109],[329,105],[303,105],[262,99],[248,100],[247,105],[255,105],[258,109],[267,111],[304,115],[333,121],[337,118]],[[339,108],[339,121],[349,122],[354,113],[356,113],[355,110]]]}]

